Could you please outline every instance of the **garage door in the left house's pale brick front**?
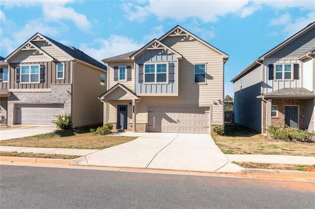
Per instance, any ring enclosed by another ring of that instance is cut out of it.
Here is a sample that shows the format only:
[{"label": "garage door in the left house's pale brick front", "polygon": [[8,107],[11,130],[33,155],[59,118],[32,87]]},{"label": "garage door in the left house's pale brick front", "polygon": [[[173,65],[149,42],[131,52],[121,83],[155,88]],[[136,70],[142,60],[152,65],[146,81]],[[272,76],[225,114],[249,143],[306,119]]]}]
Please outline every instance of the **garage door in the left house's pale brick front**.
[{"label": "garage door in the left house's pale brick front", "polygon": [[63,114],[63,104],[18,104],[15,124],[53,125],[55,115]]}]

